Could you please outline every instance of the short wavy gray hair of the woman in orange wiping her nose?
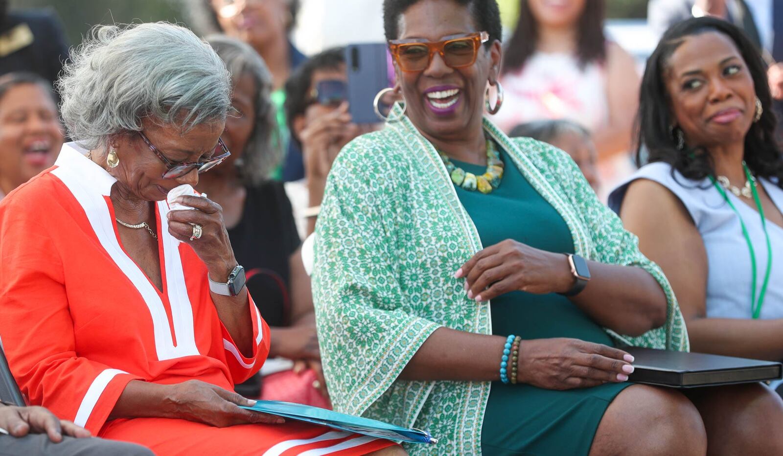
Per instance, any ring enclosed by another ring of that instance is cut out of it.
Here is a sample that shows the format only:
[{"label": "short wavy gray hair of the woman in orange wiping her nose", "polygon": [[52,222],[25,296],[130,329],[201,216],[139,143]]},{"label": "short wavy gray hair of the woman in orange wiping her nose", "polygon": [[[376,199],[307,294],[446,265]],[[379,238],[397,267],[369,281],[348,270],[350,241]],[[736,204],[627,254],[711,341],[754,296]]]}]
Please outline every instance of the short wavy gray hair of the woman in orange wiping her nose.
[{"label": "short wavy gray hair of the woman in orange wiping her nose", "polygon": [[68,134],[87,149],[141,131],[143,118],[188,132],[225,121],[231,107],[231,79],[215,51],[164,22],[94,27],[56,85]]}]

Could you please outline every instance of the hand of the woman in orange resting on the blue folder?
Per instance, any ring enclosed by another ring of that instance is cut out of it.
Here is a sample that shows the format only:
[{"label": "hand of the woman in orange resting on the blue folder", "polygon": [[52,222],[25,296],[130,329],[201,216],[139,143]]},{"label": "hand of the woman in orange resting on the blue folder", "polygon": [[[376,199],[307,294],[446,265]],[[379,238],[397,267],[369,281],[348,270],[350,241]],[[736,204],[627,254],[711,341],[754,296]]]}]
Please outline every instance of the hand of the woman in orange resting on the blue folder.
[{"label": "hand of the woman in orange resting on the blue folder", "polygon": [[255,401],[207,382],[189,380],[169,386],[170,391],[165,401],[171,408],[171,418],[183,418],[218,428],[247,423],[285,422],[279,416],[239,407],[240,405],[252,406]]}]

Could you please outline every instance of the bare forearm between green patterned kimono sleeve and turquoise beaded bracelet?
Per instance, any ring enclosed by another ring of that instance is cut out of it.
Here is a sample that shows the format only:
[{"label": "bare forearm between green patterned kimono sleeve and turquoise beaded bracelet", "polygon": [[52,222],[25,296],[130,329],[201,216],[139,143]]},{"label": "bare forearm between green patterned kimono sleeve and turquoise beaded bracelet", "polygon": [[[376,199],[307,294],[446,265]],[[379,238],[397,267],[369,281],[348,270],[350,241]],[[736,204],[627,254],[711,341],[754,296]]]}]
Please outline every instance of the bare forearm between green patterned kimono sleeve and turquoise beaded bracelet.
[{"label": "bare forearm between green patterned kimono sleeve and turquoise beaded bracelet", "polygon": [[506,338],[438,328],[402,370],[402,380],[500,380]]}]

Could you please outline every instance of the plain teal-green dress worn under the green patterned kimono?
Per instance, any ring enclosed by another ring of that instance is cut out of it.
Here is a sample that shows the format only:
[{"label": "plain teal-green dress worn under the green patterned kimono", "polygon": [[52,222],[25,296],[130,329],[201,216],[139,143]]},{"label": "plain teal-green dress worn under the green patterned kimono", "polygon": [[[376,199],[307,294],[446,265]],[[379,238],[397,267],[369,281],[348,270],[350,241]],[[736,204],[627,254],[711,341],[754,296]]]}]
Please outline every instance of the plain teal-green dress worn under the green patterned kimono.
[{"label": "plain teal-green dress worn under the green patterned kimono", "polygon": [[[505,152],[502,159],[506,174],[492,193],[456,188],[482,244],[489,247],[514,239],[548,252],[573,253],[571,232],[561,215],[511,165]],[[482,166],[460,161],[454,165],[477,176],[485,172]],[[561,295],[514,291],[493,299],[491,309],[495,335],[568,337],[613,345],[606,331]],[[482,453],[587,454],[604,411],[628,385],[554,391],[493,382],[482,426]]]}]

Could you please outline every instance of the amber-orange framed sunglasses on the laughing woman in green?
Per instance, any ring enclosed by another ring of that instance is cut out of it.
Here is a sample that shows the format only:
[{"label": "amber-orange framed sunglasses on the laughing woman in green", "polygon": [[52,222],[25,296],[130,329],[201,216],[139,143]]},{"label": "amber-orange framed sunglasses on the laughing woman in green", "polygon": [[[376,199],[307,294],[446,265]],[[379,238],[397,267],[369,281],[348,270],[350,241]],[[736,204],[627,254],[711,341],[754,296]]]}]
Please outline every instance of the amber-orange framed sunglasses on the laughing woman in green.
[{"label": "amber-orange framed sunglasses on the laughing woman in green", "polygon": [[389,50],[402,71],[424,71],[430,66],[435,52],[452,68],[470,67],[476,61],[478,48],[489,41],[489,33],[482,31],[455,35],[442,42],[420,40],[391,40]]}]

